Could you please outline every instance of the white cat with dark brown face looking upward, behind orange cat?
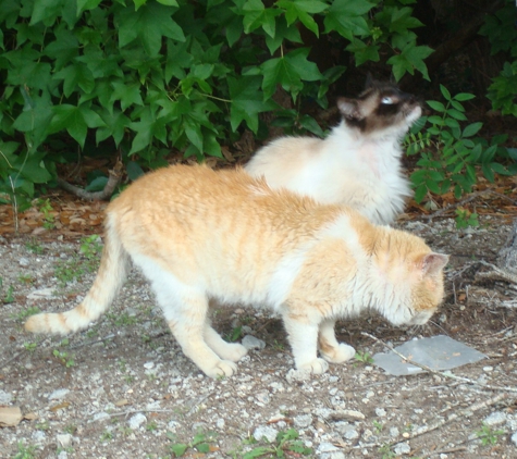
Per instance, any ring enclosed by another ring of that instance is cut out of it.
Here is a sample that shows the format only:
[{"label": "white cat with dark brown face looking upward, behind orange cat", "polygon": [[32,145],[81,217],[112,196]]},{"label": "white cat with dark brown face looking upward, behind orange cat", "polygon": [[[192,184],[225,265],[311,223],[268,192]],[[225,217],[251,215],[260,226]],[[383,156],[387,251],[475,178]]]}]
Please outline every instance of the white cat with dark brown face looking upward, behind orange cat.
[{"label": "white cat with dark brown face looking upward, behind orange cat", "polygon": [[245,170],[273,188],[346,204],[372,223],[391,224],[413,195],[401,166],[401,139],[421,108],[393,84],[370,78],[359,97],[341,98],[337,107],[343,121],[325,139],[279,138]]}]

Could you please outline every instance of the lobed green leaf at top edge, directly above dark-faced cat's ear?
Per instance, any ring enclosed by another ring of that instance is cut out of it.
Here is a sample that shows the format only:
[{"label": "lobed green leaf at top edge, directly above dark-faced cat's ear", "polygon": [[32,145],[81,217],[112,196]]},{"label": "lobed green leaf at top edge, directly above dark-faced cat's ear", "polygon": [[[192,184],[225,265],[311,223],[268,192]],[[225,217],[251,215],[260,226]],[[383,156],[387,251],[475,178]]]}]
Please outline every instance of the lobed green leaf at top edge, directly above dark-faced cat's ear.
[{"label": "lobed green leaf at top edge, directly above dark-faced cat's ear", "polygon": [[335,0],[324,18],[325,32],[336,30],[350,41],[354,36],[366,37],[370,35],[364,15],[373,7],[374,3],[366,0]]}]

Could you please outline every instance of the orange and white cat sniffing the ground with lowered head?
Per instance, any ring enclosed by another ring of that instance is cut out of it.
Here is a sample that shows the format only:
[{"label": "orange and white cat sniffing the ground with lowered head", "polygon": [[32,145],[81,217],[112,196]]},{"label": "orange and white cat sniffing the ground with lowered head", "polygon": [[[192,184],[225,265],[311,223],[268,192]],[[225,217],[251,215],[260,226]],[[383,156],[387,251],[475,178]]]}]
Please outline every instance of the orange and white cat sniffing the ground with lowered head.
[{"label": "orange and white cat sniffing the ground with lowered head", "polygon": [[355,353],[335,338],[340,318],[372,309],[395,325],[426,323],[442,300],[448,257],[348,208],[271,190],[242,170],[176,165],[143,176],[110,203],[100,269],[83,302],[33,315],[25,327],[88,326],[118,295],[130,259],[152,284],[184,353],[217,377],[232,375],[246,349],[211,327],[209,299],[278,311],[296,368],[322,373]]}]

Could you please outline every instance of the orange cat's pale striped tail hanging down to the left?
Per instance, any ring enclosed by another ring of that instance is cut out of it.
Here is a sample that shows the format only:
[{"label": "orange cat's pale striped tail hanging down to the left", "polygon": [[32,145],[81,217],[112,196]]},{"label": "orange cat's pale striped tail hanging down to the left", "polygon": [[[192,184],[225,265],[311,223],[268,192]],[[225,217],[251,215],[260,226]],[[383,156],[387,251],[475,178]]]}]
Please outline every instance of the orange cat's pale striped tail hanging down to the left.
[{"label": "orange cat's pale striped tail hanging down to the left", "polygon": [[32,315],[25,322],[25,330],[33,333],[66,335],[85,328],[108,309],[127,275],[130,256],[113,225],[110,224],[109,215],[106,228],[100,268],[83,302],[66,312]]}]

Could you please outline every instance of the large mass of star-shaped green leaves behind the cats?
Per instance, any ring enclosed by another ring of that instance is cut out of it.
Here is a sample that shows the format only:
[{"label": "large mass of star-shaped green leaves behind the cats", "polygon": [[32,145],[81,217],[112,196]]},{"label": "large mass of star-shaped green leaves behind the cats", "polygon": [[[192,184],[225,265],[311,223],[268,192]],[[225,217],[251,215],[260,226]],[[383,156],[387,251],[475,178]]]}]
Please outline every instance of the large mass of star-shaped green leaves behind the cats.
[{"label": "large mass of star-shaped green leaves behind the cats", "polygon": [[5,0],[0,201],[28,207],[74,150],[119,152],[147,168],[164,165],[172,147],[222,158],[221,145],[245,128],[259,135],[260,113],[278,110],[292,131],[321,134],[311,116],[273,100],[281,88],[297,107],[310,98],[324,108],[345,72],[319,69],[300,29],[346,48],[356,65],[382,55],[397,79],[429,79],[415,2]]}]

